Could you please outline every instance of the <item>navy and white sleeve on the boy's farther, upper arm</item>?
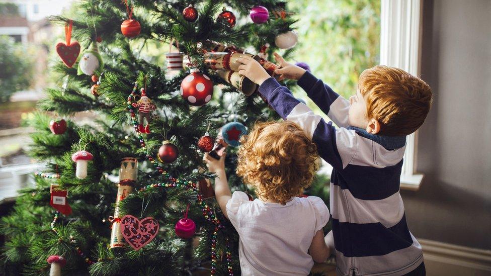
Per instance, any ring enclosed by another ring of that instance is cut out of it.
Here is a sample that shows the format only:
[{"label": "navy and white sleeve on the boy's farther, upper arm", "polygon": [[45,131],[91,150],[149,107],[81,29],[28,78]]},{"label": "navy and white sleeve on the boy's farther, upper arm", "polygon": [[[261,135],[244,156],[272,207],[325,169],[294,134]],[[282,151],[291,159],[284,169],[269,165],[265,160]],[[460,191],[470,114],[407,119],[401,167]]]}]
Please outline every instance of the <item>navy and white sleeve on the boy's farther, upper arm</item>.
[{"label": "navy and white sleeve on the boy's farther, upper arm", "polygon": [[306,71],[298,80],[307,96],[339,127],[348,127],[350,102],[337,94],[329,85]]}]

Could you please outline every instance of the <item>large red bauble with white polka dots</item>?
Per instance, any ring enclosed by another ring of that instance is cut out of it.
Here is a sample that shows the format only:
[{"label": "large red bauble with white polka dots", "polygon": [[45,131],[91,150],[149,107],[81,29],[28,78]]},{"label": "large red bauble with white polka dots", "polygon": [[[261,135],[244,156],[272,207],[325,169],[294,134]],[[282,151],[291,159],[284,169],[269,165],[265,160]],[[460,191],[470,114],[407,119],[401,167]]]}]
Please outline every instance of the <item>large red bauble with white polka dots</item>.
[{"label": "large red bauble with white polka dots", "polygon": [[191,69],[181,82],[181,96],[192,106],[202,106],[213,97],[213,82],[198,69]]}]

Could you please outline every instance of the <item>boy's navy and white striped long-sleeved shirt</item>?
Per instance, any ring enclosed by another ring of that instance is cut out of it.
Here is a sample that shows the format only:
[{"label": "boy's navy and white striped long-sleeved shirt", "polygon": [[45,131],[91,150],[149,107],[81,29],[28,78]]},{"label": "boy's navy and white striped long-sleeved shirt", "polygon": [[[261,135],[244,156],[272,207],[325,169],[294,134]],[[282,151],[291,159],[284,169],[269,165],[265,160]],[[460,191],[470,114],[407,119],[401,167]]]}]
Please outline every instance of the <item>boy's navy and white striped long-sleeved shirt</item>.
[{"label": "boy's navy and white striped long-sleeved shirt", "polygon": [[403,275],[414,270],[423,254],[407,228],[399,194],[404,138],[379,141],[381,136],[351,128],[349,102],[309,72],[298,84],[340,128],[314,114],[274,78],[259,91],[284,120],[310,135],[320,157],[334,167],[330,209],[337,272]]}]

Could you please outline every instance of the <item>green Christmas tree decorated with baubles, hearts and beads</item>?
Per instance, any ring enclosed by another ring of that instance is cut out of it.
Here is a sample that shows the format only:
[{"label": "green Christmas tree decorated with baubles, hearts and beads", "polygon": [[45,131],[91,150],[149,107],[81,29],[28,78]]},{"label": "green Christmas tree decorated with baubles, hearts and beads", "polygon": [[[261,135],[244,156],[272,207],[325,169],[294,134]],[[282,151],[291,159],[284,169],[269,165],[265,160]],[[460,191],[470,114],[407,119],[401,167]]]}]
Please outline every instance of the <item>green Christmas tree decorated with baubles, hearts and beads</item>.
[{"label": "green Christmas tree decorated with baubles, hearts and beads", "polygon": [[279,117],[234,60],[251,54],[272,72],[272,52],[296,43],[286,3],[257,5],[83,0],[50,19],[65,27],[59,81],[27,122],[46,167],[2,218],[6,274],[240,274],[202,157],[226,146],[232,191],[254,196],[235,175],[237,140]]}]

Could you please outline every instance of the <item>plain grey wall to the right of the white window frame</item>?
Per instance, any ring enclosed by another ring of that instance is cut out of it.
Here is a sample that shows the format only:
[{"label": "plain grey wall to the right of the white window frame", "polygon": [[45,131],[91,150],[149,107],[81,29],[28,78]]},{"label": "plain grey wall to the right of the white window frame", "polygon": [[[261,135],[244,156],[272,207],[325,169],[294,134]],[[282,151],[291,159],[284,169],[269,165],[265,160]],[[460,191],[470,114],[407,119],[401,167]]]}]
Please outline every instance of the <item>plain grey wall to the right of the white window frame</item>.
[{"label": "plain grey wall to the right of the white window frame", "polygon": [[402,191],[418,238],[491,249],[491,1],[426,0],[422,78],[434,105],[419,131],[418,192]]}]

